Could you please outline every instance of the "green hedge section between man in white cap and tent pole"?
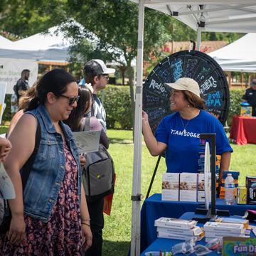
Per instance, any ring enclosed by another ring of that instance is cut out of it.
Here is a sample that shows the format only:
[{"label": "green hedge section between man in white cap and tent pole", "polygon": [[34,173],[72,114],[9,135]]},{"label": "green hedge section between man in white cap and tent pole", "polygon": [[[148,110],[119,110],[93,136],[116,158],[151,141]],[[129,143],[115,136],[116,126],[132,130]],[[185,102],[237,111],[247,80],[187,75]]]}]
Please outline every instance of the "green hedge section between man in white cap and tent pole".
[{"label": "green hedge section between man in white cap and tent pole", "polygon": [[[102,91],[98,97],[102,99]],[[107,85],[103,104],[107,113],[108,128],[132,128],[132,107],[128,86]]]}]

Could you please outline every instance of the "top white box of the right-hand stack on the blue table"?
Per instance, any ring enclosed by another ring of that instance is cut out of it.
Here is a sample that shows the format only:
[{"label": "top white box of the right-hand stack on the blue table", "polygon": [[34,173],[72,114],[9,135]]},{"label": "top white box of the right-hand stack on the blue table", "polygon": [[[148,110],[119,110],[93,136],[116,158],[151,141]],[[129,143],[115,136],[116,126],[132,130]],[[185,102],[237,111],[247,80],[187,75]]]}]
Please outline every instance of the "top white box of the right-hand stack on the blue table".
[{"label": "top white box of the right-hand stack on the blue table", "polygon": [[238,235],[245,233],[245,226],[243,224],[237,223],[217,223],[208,221],[205,225],[203,225],[203,230],[205,232],[230,232],[236,233]]}]

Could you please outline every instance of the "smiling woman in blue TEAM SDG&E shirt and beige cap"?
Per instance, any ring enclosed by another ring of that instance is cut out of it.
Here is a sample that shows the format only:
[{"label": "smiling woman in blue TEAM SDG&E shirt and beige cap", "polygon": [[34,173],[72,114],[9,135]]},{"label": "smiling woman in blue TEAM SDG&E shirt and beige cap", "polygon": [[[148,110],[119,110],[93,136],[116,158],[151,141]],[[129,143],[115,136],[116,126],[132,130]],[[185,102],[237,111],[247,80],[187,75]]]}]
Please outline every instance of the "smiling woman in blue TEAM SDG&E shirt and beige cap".
[{"label": "smiling woman in blue TEAM SDG&E shirt and beige cap", "polygon": [[175,111],[161,120],[156,134],[151,132],[146,112],[142,112],[144,141],[152,156],[166,150],[167,172],[198,172],[200,134],[216,134],[216,153],[221,155],[220,177],[229,169],[230,147],[222,124],[216,117],[204,111],[199,85],[191,78],[180,78],[169,85],[171,110]]}]

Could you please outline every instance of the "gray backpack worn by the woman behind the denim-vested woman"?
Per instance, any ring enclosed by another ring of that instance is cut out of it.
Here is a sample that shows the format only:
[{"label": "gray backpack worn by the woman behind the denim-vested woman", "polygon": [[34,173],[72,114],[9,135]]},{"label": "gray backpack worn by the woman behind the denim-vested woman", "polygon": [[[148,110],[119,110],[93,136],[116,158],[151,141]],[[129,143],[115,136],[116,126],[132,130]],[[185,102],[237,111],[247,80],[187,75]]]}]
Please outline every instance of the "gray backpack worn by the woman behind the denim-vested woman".
[{"label": "gray backpack worn by the woman behind the denim-vested woman", "polygon": [[[90,117],[85,117],[85,131],[90,130]],[[93,202],[114,192],[114,162],[109,152],[100,144],[99,151],[83,154],[82,185],[87,201]]]}]

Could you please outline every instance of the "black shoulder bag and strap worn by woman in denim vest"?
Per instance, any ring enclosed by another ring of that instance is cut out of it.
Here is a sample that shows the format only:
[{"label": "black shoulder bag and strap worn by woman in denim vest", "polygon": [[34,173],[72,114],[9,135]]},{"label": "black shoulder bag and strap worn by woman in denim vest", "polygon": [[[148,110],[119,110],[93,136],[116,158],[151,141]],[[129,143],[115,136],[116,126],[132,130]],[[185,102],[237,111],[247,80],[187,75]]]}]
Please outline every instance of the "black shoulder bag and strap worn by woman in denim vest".
[{"label": "black shoulder bag and strap worn by woman in denim vest", "polygon": [[[35,160],[39,144],[41,141],[41,126],[40,123],[36,117],[37,120],[37,127],[36,127],[36,142],[35,142],[35,148],[33,150],[33,153],[29,157],[29,159],[26,161],[26,163],[23,165],[23,171],[21,174],[21,179],[22,179],[22,188],[23,191],[26,187],[26,182],[28,181],[28,176],[30,174],[33,161]],[[0,235],[5,235],[7,231],[9,231],[11,224],[11,210],[9,208],[9,204],[7,200],[4,200],[4,219],[0,225]]]}]

